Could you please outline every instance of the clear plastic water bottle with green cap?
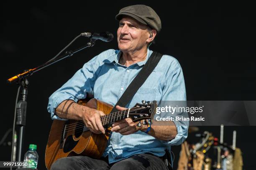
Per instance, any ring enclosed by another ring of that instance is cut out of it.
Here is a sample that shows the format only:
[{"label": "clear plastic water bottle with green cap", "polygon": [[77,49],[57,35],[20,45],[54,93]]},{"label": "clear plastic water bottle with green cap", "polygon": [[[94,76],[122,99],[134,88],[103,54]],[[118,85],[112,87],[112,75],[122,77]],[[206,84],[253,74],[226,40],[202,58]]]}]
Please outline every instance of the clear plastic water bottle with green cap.
[{"label": "clear plastic water bottle with green cap", "polygon": [[24,155],[24,163],[23,167],[36,169],[38,162],[38,154],[36,152],[36,145],[30,144],[28,148],[28,152]]}]

